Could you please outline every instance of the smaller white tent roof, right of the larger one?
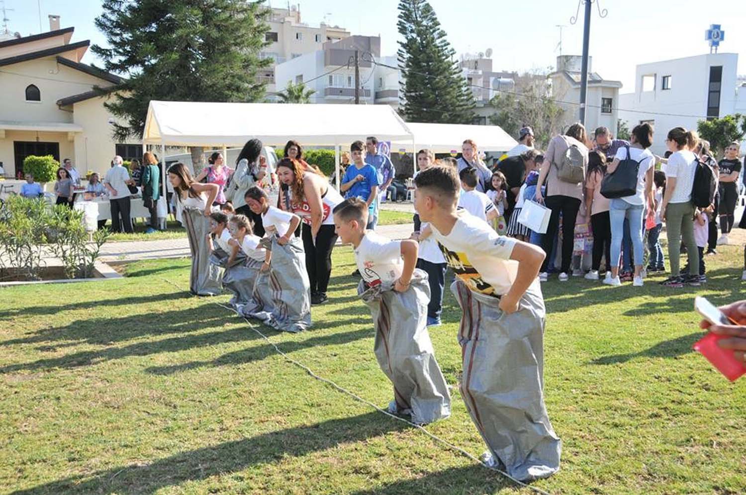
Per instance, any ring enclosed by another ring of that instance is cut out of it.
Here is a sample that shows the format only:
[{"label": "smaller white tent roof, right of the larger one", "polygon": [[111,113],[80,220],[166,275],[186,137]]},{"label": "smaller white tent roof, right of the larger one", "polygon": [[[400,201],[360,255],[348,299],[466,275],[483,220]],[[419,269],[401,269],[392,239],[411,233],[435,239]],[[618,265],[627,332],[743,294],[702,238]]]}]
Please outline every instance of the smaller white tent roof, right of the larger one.
[{"label": "smaller white tent roof, right of the larger one", "polygon": [[[505,152],[518,141],[510,137],[499,125],[466,125],[466,124],[428,124],[407,122],[407,127],[415,135],[414,142],[418,149],[430,149],[434,153],[461,152],[464,140],[471,139],[477,143],[480,151]],[[412,140],[392,140],[392,152],[398,149],[410,150]]]}]

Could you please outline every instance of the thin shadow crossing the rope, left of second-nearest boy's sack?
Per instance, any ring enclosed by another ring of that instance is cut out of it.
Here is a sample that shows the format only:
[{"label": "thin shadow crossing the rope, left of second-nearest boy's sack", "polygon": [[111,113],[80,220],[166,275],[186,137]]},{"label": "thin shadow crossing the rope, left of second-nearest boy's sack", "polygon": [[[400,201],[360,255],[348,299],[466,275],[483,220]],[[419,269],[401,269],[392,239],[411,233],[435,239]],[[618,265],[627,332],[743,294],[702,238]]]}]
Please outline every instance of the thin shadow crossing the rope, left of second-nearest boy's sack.
[{"label": "thin shadow crossing the rope, left of second-nearest boy's sack", "polygon": [[[288,342],[277,343],[277,346],[282,350],[282,352],[290,353],[301,349],[308,349],[309,347],[350,343],[355,340],[372,337],[372,335],[372,331],[369,329],[363,329],[338,334],[320,335],[319,337],[311,337],[300,341],[291,340]],[[262,346],[254,346],[235,352],[228,352],[212,361],[192,361],[184,364],[175,364],[173,366],[149,367],[145,368],[145,373],[151,373],[153,375],[172,375],[173,373],[193,370],[198,367],[219,367],[228,364],[246,364],[251,363],[252,361],[266,359],[272,355],[277,355],[277,351],[275,351],[274,346],[267,343]]]}]

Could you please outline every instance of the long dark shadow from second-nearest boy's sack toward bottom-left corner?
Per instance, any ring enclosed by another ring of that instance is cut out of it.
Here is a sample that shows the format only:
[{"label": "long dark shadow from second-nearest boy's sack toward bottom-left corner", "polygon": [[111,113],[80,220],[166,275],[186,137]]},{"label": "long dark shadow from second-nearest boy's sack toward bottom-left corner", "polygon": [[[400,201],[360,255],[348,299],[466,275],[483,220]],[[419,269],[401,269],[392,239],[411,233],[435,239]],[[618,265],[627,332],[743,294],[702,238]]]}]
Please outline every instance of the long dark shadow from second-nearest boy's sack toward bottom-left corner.
[{"label": "long dark shadow from second-nearest boy's sack toward bottom-left corner", "polygon": [[341,443],[362,442],[408,428],[401,421],[370,412],[206,446],[150,464],[122,465],[90,475],[70,476],[13,493],[151,494],[162,488],[178,487],[185,482],[235,473],[258,464],[281,462],[288,456],[301,457],[310,452],[333,449]]}]

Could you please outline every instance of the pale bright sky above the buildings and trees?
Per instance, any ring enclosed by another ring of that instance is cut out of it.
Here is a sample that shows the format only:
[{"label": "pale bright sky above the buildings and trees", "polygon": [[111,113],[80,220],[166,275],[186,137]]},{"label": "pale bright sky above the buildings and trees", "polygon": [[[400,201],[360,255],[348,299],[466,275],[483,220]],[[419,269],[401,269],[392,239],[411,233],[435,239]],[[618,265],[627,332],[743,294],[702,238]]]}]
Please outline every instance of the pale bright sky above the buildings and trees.
[{"label": "pale bright sky above the buildings and trees", "polygon": [[[178,0],[175,0],[178,1]],[[704,31],[719,23],[726,32],[720,52],[738,52],[746,46],[746,1],[743,0],[597,0],[608,9],[604,19],[593,5],[591,22],[592,69],[606,79],[622,81],[622,93],[633,90],[638,63],[687,57],[709,52]],[[62,17],[63,27],[75,26],[74,41],[105,43],[93,25],[101,13],[100,0],[39,0],[43,31],[48,30],[48,14]],[[287,1],[270,0],[273,7],[286,7]],[[291,3],[297,3],[291,2]],[[580,55],[583,43],[583,12],[575,25],[571,16],[577,0],[430,0],[448,40],[458,54],[484,52],[492,48],[495,70],[542,69],[554,66],[559,55],[557,43],[562,34],[562,53]],[[371,6],[374,6],[373,8]],[[37,34],[37,1],[5,0],[10,31]],[[310,25],[322,20],[348,28],[353,34],[380,35],[383,55],[394,55],[398,48],[396,22],[398,0],[305,0],[301,19]],[[581,7],[582,9],[582,7]],[[88,53],[85,62],[95,61]],[[746,73],[739,60],[739,73]]]}]

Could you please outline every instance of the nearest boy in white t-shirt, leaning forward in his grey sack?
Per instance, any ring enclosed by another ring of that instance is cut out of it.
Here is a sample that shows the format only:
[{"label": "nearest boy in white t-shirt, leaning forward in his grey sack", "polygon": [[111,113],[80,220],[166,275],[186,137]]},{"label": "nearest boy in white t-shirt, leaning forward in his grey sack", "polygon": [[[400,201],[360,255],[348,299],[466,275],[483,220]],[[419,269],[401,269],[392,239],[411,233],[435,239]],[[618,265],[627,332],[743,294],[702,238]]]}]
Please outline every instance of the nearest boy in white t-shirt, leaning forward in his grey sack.
[{"label": "nearest boy in white t-shirt, leaning forward in his grey sack", "polygon": [[521,481],[551,476],[562,444],[542,392],[545,306],[537,275],[544,252],[457,211],[455,170],[424,170],[415,184],[415,209],[456,274],[461,396],[489,447],[483,461]]}]

